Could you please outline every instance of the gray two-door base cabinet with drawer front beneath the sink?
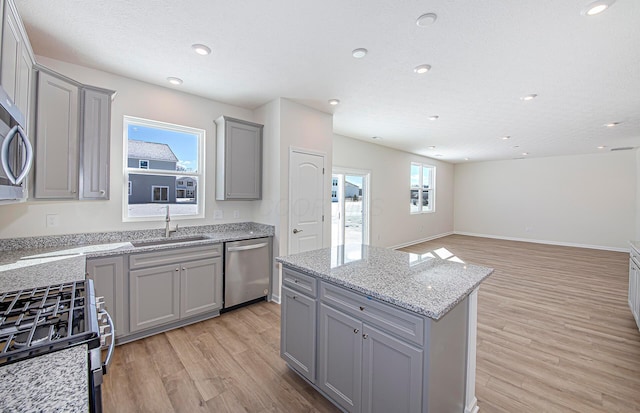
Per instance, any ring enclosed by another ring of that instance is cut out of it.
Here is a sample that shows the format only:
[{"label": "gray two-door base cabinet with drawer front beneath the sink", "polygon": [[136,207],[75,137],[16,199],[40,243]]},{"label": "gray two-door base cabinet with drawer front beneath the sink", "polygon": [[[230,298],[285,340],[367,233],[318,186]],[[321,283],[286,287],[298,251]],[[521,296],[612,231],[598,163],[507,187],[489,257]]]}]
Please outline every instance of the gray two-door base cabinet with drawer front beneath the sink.
[{"label": "gray two-door base cabinet with drawer front beneath the sink", "polygon": [[222,308],[222,246],[129,257],[129,328],[147,330]]}]

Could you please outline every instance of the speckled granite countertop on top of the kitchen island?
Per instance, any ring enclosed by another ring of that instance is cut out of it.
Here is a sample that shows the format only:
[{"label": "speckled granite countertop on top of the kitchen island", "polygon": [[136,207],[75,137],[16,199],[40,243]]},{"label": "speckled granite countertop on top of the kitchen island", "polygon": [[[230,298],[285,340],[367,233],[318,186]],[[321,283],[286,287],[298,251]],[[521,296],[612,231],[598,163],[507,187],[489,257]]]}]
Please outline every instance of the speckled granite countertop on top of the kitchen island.
[{"label": "speckled granite countertop on top of the kitchen island", "polygon": [[434,320],[493,272],[456,257],[441,259],[437,252],[417,255],[367,245],[325,248],[276,261]]}]

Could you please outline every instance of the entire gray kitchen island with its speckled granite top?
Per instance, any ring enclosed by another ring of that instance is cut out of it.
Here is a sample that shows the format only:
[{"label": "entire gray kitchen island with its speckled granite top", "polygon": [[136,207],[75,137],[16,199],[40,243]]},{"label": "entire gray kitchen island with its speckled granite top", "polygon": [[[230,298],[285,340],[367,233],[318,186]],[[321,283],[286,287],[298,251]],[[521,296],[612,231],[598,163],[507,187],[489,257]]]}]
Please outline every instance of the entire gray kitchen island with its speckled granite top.
[{"label": "entire gray kitchen island with its speckled granite top", "polygon": [[478,410],[477,289],[492,269],[362,245],[277,261],[281,356],[338,407]]}]

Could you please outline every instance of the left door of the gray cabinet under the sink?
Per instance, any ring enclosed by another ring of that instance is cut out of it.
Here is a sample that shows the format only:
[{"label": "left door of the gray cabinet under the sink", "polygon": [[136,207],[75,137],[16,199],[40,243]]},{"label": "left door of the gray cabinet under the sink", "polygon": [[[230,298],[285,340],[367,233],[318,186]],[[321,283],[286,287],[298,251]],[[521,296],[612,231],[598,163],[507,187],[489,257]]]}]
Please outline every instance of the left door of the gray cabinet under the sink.
[{"label": "left door of the gray cabinet under the sink", "polygon": [[180,318],[180,266],[129,271],[131,332]]}]

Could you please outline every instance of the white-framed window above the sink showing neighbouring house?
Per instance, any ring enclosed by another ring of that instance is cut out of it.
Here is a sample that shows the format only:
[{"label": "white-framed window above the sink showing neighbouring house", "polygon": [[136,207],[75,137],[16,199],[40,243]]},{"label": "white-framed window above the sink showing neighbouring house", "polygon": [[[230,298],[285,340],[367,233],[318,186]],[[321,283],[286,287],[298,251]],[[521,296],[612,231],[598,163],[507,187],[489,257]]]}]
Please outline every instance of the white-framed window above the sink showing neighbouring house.
[{"label": "white-framed window above the sink showing neighbouring house", "polygon": [[123,220],[164,219],[165,205],[172,217],[203,218],[205,131],[125,116],[123,135]]}]

